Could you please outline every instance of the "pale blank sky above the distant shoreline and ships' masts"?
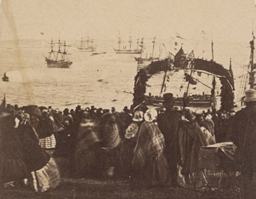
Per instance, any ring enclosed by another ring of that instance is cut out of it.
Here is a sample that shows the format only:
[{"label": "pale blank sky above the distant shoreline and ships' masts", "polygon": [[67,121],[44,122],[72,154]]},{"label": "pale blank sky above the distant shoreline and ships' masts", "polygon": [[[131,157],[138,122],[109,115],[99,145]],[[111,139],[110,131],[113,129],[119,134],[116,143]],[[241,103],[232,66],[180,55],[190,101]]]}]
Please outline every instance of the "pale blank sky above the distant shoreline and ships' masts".
[{"label": "pale blank sky above the distant shoreline and ships' masts", "polygon": [[[4,9],[3,9],[4,8]],[[198,38],[248,40],[254,0],[2,0],[1,39]],[[11,20],[11,21],[10,21]]]}]

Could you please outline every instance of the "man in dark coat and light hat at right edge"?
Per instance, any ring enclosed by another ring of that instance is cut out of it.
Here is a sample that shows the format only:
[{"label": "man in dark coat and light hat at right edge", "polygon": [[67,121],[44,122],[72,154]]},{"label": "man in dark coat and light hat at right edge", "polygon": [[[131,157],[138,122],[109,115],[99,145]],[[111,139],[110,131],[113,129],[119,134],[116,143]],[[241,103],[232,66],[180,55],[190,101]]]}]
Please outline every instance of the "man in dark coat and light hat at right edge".
[{"label": "man in dark coat and light hat at right edge", "polygon": [[244,198],[251,199],[256,198],[256,90],[247,90],[243,102],[246,107],[233,119],[231,140],[237,146]]}]

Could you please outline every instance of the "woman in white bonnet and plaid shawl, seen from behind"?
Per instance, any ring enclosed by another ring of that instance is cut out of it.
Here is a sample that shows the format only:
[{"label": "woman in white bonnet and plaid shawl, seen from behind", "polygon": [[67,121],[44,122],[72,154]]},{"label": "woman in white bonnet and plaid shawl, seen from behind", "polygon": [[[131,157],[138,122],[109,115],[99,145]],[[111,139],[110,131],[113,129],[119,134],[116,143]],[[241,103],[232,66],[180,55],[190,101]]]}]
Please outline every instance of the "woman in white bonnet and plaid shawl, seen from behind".
[{"label": "woman in white bonnet and plaid shawl, seen from behind", "polygon": [[131,189],[170,185],[165,139],[156,123],[157,111],[148,109],[144,119],[132,159]]}]

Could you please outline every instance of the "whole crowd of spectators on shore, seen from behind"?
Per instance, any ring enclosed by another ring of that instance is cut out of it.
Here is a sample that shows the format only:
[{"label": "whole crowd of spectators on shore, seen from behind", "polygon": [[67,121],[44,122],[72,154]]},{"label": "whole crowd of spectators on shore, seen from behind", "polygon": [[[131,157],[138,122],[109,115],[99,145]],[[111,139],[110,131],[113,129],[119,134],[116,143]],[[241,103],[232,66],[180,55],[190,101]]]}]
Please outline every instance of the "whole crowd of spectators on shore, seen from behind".
[{"label": "whole crowd of spectators on shore, seen from behind", "polygon": [[173,109],[171,93],[162,109],[141,104],[122,112],[94,106],[63,113],[51,106],[7,105],[0,115],[1,188],[24,186],[44,192],[60,177],[122,178],[132,190],[190,187],[203,146],[232,141],[237,146],[245,190],[256,165],[256,91],[234,111]]}]

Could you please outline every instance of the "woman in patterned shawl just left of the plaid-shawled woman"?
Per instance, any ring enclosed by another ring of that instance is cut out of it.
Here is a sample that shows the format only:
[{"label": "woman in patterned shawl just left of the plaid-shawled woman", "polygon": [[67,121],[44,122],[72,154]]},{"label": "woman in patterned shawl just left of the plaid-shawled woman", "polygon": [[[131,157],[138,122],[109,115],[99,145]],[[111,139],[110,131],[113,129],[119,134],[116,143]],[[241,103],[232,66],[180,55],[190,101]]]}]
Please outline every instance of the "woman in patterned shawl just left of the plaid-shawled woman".
[{"label": "woman in patterned shawl just left of the plaid-shawled woman", "polygon": [[123,171],[122,174],[126,178],[131,176],[131,162],[133,158],[133,150],[136,146],[139,129],[143,120],[143,112],[136,111],[132,118],[132,122],[125,131],[125,139],[120,150],[120,159]]}]

